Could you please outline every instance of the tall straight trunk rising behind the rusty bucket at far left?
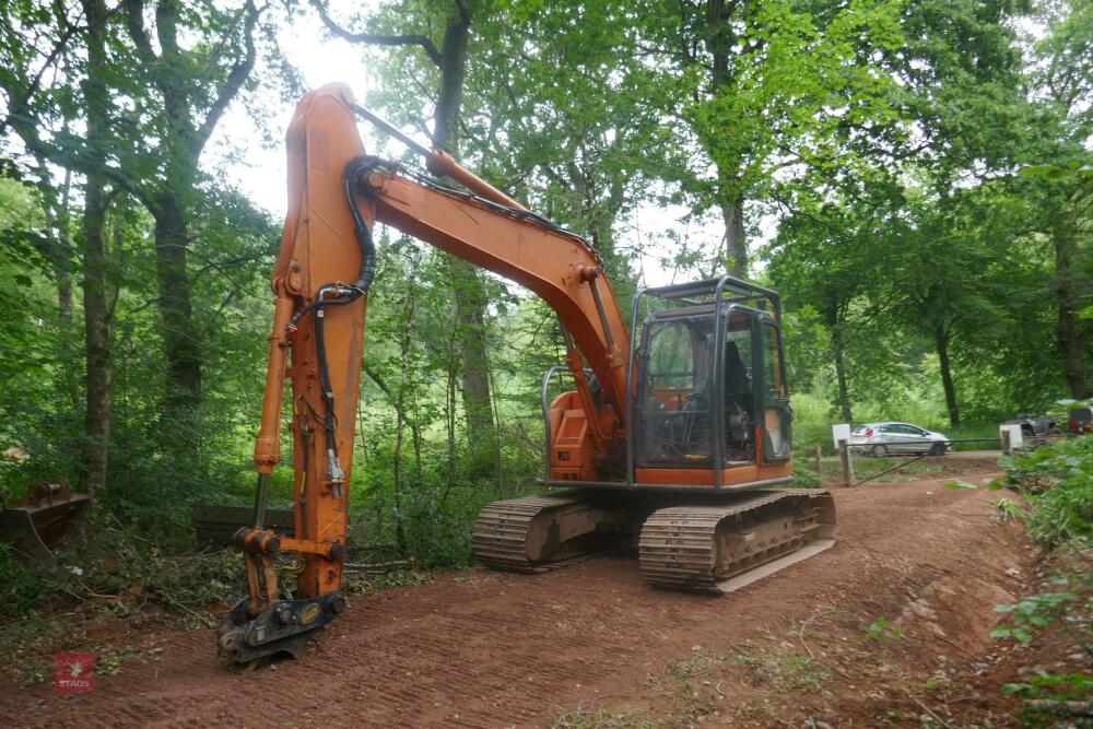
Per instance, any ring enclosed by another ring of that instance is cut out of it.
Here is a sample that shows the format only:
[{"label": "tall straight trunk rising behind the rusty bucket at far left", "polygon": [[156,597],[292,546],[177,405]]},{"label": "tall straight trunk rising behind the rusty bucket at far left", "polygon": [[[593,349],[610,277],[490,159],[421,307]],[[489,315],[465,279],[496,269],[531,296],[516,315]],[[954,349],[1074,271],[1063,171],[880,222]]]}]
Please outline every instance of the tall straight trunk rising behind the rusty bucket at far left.
[{"label": "tall straight trunk rising behind the rusty bucket at far left", "polygon": [[[107,19],[103,0],[84,0],[87,19],[87,78],[83,82],[87,110],[87,144],[101,149],[109,133],[109,98],[102,73],[106,67]],[[83,207],[83,317],[87,355],[87,407],[84,419],[81,485],[91,494],[106,490],[110,439],[110,321],[106,298],[106,187],[97,165],[87,173]]]}]

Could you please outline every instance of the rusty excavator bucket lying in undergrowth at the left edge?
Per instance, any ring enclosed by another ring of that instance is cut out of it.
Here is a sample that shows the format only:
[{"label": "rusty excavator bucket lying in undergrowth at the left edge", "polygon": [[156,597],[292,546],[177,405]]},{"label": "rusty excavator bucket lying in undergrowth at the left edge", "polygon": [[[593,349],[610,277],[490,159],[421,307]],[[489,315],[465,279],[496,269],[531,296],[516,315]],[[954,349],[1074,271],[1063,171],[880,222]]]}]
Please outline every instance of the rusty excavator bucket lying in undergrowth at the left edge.
[{"label": "rusty excavator bucket lying in undergrowth at the left edge", "polygon": [[68,481],[39,481],[26,495],[0,509],[0,533],[14,538],[24,556],[46,564],[57,561],[50,546],[86,519],[90,494],[73,494]]}]

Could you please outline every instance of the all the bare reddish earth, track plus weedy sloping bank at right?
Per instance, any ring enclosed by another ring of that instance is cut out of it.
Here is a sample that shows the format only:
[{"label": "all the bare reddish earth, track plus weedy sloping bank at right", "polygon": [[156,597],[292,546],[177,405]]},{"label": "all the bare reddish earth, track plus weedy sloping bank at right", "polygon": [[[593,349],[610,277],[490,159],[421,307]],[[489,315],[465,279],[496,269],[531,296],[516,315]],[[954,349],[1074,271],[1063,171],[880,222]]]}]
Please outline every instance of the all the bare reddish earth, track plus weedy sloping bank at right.
[{"label": "all the bare reddish earth, track plus weedy sloping bank at right", "polygon": [[1032,550],[995,494],[944,482],[836,490],[838,543],[729,597],[649,589],[624,557],[472,569],[354,598],[308,656],[249,674],[218,663],[208,631],[145,635],[93,694],[0,684],[0,720],[1006,726],[1015,703],[997,686],[1015,668],[988,637],[991,608],[1025,590]]}]

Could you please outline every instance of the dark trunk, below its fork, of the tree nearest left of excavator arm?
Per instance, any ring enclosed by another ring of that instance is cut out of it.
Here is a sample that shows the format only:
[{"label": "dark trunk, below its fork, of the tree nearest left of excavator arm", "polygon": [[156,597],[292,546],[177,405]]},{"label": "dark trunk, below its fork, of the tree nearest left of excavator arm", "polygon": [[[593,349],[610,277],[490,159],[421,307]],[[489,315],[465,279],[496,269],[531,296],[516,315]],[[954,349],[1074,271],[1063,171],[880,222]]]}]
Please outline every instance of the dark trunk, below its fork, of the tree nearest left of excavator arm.
[{"label": "dark trunk, below its fork, of the tree nearest left of excavator arm", "polygon": [[[166,358],[164,414],[175,418],[201,403],[201,343],[193,326],[186,270],[186,212],[171,190],[155,198],[155,271]],[[189,415],[187,415],[189,416]]]}]

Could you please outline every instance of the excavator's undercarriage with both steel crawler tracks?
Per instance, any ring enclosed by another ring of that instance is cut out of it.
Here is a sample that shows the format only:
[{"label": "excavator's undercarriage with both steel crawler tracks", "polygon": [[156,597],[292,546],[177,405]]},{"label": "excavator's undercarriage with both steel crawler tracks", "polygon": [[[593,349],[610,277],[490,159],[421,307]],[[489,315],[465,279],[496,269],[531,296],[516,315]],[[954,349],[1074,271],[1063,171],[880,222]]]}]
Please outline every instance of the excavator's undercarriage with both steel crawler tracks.
[{"label": "excavator's undercarriage with both steel crawler tracks", "polygon": [[503,572],[537,573],[636,543],[655,587],[724,595],[835,543],[826,491],[761,490],[681,498],[566,491],[494,502],[479,515],[474,556]]}]

